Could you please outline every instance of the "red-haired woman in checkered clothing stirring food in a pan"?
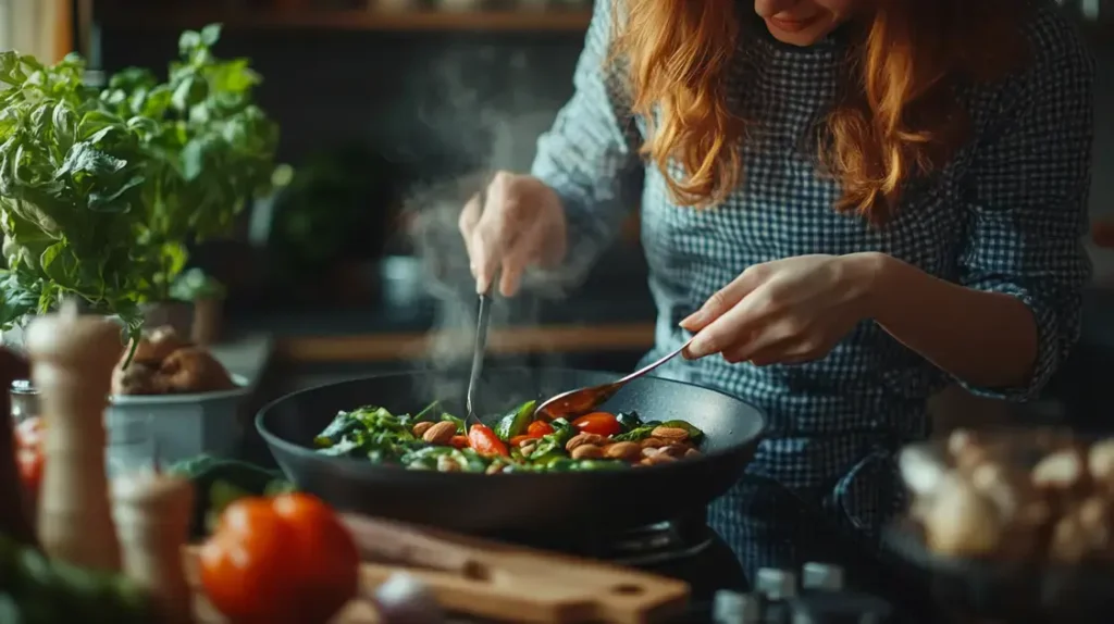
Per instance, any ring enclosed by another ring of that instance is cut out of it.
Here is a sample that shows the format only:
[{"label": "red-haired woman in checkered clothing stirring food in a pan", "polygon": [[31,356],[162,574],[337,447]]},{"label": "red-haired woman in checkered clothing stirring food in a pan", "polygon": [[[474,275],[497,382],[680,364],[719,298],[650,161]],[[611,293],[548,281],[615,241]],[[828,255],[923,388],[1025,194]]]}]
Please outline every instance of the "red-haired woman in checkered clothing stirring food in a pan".
[{"label": "red-haired woman in checkered clothing stirring food in a pan", "polygon": [[[749,473],[873,535],[931,394],[1033,397],[1077,338],[1084,43],[1052,0],[617,7],[531,174],[463,210],[477,287],[582,261],[641,196],[647,358],[695,334],[672,375],[769,416]],[[744,498],[711,512],[736,553]]]}]

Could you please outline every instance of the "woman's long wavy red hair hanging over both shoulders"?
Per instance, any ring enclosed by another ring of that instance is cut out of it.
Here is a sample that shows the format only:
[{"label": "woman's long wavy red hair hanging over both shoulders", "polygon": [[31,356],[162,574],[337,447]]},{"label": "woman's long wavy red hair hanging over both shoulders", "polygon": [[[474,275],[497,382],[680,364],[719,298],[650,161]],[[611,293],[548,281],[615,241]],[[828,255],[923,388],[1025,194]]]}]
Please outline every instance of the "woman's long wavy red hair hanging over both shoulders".
[{"label": "woman's long wavy red hair hanging over both shoulders", "polygon": [[[817,147],[842,187],[836,209],[872,222],[892,216],[907,181],[942,167],[968,140],[955,95],[1025,58],[1019,0],[882,0],[849,30],[842,97]],[[633,110],[651,122],[642,147],[673,199],[707,207],[742,181],[747,121],[729,107],[726,76],[744,36],[736,0],[616,0],[612,59],[622,59]],[[656,116],[655,116],[656,112]],[[682,177],[667,165],[683,167]]]}]

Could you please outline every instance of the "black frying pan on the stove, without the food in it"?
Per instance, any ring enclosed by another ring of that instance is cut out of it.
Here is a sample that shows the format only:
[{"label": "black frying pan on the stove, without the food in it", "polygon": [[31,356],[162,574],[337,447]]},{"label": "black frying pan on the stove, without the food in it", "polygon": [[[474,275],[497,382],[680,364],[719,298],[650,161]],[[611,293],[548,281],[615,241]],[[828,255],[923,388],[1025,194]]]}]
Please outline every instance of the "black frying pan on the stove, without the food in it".
[{"label": "black frying pan on the stove, without the food in it", "polygon": [[[495,368],[481,380],[478,412],[498,414],[524,400],[613,382],[614,373]],[[631,471],[480,475],[407,471],[329,457],[309,446],[338,410],[361,405],[414,413],[438,398],[462,397],[467,375],[414,373],[331,384],[280,398],[255,425],[300,488],[336,508],[487,535],[620,531],[703,513],[742,475],[764,418],[755,407],[691,384],[644,377],[604,405],[645,420],[682,418],[705,433],[704,457]],[[449,402],[447,406],[455,405]],[[451,410],[451,409],[450,409]],[[462,414],[462,409],[457,409]]]}]

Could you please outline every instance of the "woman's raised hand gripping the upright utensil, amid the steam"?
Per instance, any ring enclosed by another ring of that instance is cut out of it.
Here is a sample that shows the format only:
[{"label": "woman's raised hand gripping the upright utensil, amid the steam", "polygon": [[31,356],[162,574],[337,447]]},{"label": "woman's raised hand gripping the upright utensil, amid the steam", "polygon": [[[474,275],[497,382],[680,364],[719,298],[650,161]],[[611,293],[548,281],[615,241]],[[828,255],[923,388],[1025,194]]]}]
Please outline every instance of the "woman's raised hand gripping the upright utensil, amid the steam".
[{"label": "woman's raised hand gripping the upright utensil, amid the steam", "polygon": [[[481,205],[482,201],[482,205]],[[473,197],[460,214],[477,293],[486,293],[497,273],[499,293],[518,291],[531,266],[554,266],[567,248],[565,209],[541,180],[499,171],[486,194]]]}]

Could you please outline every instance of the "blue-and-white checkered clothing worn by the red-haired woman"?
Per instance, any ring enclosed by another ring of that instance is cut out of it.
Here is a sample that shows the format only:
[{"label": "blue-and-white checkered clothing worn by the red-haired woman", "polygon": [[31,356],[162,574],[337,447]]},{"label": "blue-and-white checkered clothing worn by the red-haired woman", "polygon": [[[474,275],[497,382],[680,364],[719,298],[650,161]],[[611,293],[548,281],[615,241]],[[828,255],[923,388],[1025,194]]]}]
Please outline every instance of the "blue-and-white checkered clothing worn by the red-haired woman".
[{"label": "blue-and-white checkered clothing worn by the red-haired woman", "polygon": [[[575,76],[576,93],[538,142],[532,172],[560,195],[574,257],[606,244],[641,196],[642,240],[658,309],[656,358],[688,336],[677,323],[746,267],[807,254],[881,251],[970,288],[1005,293],[1033,310],[1039,355],[1018,388],[968,389],[1026,399],[1079,331],[1089,261],[1079,244],[1089,187],[1094,67],[1051,2],[1034,2],[1032,66],[970,88],[974,140],[949,167],[913,185],[881,227],[832,209],[837,182],[818,171],[818,122],[834,101],[848,52],[838,37],[811,48],[750,32],[727,77],[730,100],[752,120],[740,148],[744,180],[714,209],[672,202],[656,167],[637,156],[645,126],[618,73],[605,68],[610,0],[598,0]],[[674,175],[680,170],[674,170]],[[769,437],[749,471],[814,503],[834,522],[874,534],[901,504],[895,450],[928,433],[928,397],[950,379],[872,321],[822,359],[754,367],[720,357],[662,373],[743,398],[765,412]],[[713,504],[712,525],[745,543],[755,511],[736,488]]]}]

